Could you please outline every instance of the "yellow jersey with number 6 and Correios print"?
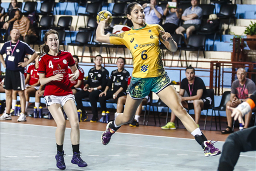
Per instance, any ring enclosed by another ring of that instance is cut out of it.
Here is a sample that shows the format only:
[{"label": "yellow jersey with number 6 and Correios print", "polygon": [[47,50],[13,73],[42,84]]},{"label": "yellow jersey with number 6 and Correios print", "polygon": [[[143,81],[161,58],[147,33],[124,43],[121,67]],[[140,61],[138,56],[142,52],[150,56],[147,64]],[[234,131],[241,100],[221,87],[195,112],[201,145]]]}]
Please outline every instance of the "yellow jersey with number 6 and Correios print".
[{"label": "yellow jersey with number 6 and Correios print", "polygon": [[124,44],[133,58],[133,77],[156,77],[164,74],[159,47],[159,31],[163,28],[158,24],[145,24],[144,27],[110,34],[110,43]]}]

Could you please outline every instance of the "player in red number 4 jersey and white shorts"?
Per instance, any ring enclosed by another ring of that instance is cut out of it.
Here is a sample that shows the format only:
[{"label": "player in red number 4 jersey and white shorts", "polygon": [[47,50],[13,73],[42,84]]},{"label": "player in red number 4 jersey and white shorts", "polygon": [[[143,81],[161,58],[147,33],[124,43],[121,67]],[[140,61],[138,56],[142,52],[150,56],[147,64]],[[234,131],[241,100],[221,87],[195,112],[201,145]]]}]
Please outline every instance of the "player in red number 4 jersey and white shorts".
[{"label": "player in red number 4 jersey and white shorts", "polygon": [[[55,155],[56,166],[59,169],[66,168],[63,151],[66,121],[62,113],[63,108],[71,126],[70,139],[73,149],[71,163],[77,164],[79,167],[85,167],[87,163],[80,157],[78,115],[74,95],[70,88],[70,81],[78,78],[79,71],[72,55],[67,51],[59,50],[58,47],[58,32],[53,29],[48,30],[44,34],[44,44],[42,45],[42,55],[39,57],[38,72],[40,83],[42,85],[45,84],[45,104],[57,124],[55,131],[57,145],[57,154]],[[73,72],[69,76],[68,66]]]}]

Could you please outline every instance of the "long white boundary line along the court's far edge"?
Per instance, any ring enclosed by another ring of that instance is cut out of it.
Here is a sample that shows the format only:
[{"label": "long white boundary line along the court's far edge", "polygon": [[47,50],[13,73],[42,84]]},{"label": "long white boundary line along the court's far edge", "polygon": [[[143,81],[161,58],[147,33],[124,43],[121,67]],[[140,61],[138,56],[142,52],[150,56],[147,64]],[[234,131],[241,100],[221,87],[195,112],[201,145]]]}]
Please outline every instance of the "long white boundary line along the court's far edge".
[{"label": "long white boundary line along the court's far edge", "polygon": [[[43,126],[43,127],[55,127],[56,126],[45,126],[45,125],[36,125],[36,124],[24,124],[24,123],[12,123],[12,122],[1,122],[1,123],[9,123],[9,124],[22,124],[22,125],[31,125],[31,126]],[[71,129],[69,127],[66,127],[66,129]],[[80,130],[87,130],[87,131],[96,131],[96,132],[103,132],[104,130],[89,130],[89,129],[80,129]],[[189,139],[189,140],[194,140],[193,138],[180,138],[180,137],[170,137],[170,136],[159,136],[159,135],[144,135],[144,134],[138,134],[138,133],[123,133],[123,132],[115,132],[115,133],[120,133],[120,134],[131,134],[131,135],[141,135],[141,136],[153,136],[153,137],[166,137],[166,138],[175,138],[175,139]],[[223,142],[224,141],[218,141],[218,142]]]}]

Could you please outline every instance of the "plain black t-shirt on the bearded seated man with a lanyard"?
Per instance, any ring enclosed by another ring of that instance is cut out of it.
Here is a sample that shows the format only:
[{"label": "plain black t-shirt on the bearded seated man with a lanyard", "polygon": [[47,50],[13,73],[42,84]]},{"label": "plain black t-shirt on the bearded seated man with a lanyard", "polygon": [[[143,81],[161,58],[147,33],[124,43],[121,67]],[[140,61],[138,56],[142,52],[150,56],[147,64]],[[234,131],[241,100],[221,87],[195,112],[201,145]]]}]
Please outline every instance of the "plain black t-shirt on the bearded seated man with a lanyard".
[{"label": "plain black t-shirt on the bearded seated man with a lanyard", "polygon": [[189,86],[190,86],[190,91],[192,91],[191,95],[190,95],[189,88],[188,88],[188,80],[187,80],[187,78],[182,79],[182,81],[180,83],[180,88],[186,90],[186,92],[187,92],[187,94],[189,96],[196,95],[196,92],[197,92],[198,89],[202,89],[203,90],[202,91],[201,99],[209,96],[207,91],[206,91],[206,87],[205,87],[205,85],[204,85],[204,83],[203,83],[201,78],[195,76],[194,77],[194,83],[193,84],[189,84]]}]

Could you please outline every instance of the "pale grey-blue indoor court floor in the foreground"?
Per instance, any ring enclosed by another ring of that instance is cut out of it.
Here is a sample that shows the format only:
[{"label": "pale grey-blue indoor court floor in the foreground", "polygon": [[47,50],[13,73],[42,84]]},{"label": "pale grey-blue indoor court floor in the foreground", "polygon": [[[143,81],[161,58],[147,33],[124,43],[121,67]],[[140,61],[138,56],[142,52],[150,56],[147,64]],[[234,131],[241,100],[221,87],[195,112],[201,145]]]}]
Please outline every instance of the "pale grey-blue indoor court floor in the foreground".
[{"label": "pale grey-blue indoor court floor in the foreground", "polygon": [[[13,117],[11,121],[0,122],[0,170],[59,170],[55,160],[55,127],[15,120]],[[205,157],[192,136],[116,132],[110,143],[103,145],[100,137],[104,126],[99,126],[102,130],[80,129],[81,157],[88,166],[78,167],[70,162],[72,148],[67,124],[63,145],[65,170],[217,170],[220,155]],[[130,129],[128,125],[123,127]],[[147,126],[139,126],[143,127]],[[159,131],[159,127],[149,127]],[[223,143],[218,141],[215,146],[222,149]],[[241,153],[235,170],[256,170],[255,160],[255,151]]]}]

